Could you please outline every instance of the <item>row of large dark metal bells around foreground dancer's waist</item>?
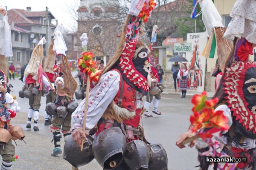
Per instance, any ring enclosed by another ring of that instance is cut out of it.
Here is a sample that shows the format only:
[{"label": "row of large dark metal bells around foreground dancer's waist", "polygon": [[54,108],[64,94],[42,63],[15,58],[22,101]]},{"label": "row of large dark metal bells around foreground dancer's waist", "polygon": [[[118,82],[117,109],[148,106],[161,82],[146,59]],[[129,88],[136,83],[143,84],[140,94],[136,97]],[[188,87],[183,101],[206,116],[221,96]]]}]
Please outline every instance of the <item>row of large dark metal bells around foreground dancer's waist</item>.
[{"label": "row of large dark metal bells around foreground dancer's waist", "polygon": [[119,127],[103,130],[95,139],[87,136],[83,150],[72,136],[64,145],[63,158],[78,168],[94,158],[103,170],[167,170],[167,154],[156,142],[146,144],[140,140],[126,143]]}]

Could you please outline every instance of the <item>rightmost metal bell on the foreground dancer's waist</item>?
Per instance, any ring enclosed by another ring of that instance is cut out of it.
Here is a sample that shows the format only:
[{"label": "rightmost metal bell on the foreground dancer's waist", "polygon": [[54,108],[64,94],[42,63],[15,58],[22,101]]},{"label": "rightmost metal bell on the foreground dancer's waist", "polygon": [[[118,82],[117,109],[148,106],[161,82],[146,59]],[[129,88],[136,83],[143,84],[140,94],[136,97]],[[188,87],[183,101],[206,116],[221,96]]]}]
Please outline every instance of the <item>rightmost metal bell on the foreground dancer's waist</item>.
[{"label": "rightmost metal bell on the foreground dancer's waist", "polygon": [[150,155],[149,164],[148,164],[149,170],[167,170],[168,169],[167,153],[163,148],[162,144],[160,143],[149,144],[148,151]]}]

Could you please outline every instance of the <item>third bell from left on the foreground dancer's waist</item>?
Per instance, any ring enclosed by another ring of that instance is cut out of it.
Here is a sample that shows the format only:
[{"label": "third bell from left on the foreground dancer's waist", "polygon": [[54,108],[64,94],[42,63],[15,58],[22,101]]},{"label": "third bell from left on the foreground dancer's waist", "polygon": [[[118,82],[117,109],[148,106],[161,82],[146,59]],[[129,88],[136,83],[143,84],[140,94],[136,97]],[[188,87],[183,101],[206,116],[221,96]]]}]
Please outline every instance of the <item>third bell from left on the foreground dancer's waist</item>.
[{"label": "third bell from left on the foreground dancer's waist", "polygon": [[141,140],[129,142],[124,161],[129,170],[148,170],[149,152],[145,142]]}]

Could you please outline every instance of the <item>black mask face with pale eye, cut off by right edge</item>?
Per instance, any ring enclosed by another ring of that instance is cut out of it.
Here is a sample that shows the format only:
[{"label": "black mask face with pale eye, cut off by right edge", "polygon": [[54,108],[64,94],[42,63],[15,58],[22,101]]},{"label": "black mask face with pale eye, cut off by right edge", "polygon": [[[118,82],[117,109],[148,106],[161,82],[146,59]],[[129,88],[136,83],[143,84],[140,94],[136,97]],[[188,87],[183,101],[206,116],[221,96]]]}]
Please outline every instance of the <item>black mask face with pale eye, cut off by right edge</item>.
[{"label": "black mask face with pale eye, cut off by right edge", "polygon": [[256,67],[249,68],[245,73],[243,94],[247,108],[256,114]]}]

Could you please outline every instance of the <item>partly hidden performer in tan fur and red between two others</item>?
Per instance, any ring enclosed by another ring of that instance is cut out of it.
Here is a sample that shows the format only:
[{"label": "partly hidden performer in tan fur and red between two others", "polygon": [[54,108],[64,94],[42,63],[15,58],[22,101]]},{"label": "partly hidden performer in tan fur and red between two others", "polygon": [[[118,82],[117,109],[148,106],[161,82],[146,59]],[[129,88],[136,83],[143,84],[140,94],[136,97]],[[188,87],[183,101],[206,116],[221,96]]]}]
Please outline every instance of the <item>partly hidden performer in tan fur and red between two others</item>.
[{"label": "partly hidden performer in tan fur and red between two others", "polygon": [[[54,86],[54,82],[56,79],[56,72],[57,72],[57,65],[56,64],[56,53],[52,50],[54,45],[54,40],[52,40],[52,43],[48,50],[47,58],[44,62],[44,72],[46,73],[50,83],[52,83],[52,86]],[[46,104],[49,102],[54,102],[56,98],[56,92],[53,92],[52,90],[49,90],[49,93],[46,95]],[[50,116],[47,111],[45,111],[45,122],[44,125],[51,125],[51,119],[52,116]]]}]

